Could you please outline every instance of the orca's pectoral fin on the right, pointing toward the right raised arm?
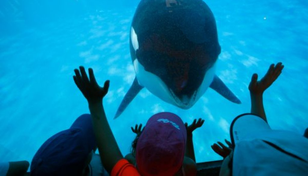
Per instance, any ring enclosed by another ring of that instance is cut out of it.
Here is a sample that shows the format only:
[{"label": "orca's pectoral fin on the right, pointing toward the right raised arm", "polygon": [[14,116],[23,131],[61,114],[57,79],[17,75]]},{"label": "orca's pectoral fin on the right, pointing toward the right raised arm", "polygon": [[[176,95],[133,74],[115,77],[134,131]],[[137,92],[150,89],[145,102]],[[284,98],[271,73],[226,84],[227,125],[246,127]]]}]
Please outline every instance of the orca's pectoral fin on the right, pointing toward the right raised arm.
[{"label": "orca's pectoral fin on the right, pointing toward the right raised arm", "polygon": [[210,88],[212,88],[231,102],[241,104],[241,101],[231,92],[231,90],[221,81],[221,79],[218,78],[217,75],[214,76]]}]

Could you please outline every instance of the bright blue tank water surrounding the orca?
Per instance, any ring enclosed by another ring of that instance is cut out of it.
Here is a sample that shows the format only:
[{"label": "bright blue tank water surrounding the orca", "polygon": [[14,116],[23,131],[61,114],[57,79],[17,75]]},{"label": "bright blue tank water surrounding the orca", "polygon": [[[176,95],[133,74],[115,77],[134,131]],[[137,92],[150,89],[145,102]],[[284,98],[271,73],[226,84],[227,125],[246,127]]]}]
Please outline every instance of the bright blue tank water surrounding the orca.
[{"label": "bright blue tank water surrounding the orca", "polygon": [[216,73],[242,104],[208,89],[192,108],[182,110],[144,89],[113,120],[135,76],[128,34],[138,1],[1,1],[1,160],[31,161],[47,138],[89,113],[72,79],[79,65],[92,67],[101,85],[111,80],[104,107],[124,155],[134,139],[131,126],[145,124],[153,113],[170,111],[188,123],[205,119],[193,136],[197,162],[222,159],[210,145],[229,139],[232,119],[250,111],[251,75],[263,76],[278,61],[285,68],[264,94],[269,124],[303,134],[308,127],[307,2],[205,2],[217,20],[222,48]]}]

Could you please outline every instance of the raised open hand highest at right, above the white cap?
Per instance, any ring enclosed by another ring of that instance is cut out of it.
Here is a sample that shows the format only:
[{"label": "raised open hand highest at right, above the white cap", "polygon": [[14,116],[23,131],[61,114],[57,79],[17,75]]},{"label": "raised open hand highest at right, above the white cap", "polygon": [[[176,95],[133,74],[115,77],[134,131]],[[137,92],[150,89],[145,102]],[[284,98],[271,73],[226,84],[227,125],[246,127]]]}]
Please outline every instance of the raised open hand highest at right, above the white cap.
[{"label": "raised open hand highest at right, above the white cap", "polygon": [[284,65],[282,65],[281,62],[278,62],[276,65],[270,65],[267,73],[260,81],[257,81],[258,75],[254,73],[248,86],[250,93],[254,95],[263,94],[263,92],[278,78],[283,67]]}]

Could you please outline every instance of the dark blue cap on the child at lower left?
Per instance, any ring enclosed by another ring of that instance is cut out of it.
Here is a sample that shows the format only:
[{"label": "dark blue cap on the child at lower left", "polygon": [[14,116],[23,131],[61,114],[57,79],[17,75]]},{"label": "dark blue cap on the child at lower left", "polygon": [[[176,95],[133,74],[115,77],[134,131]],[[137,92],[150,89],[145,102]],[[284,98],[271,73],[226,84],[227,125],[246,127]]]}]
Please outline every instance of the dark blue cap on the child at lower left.
[{"label": "dark blue cap on the child at lower left", "polygon": [[89,153],[95,148],[91,115],[83,114],[71,128],[43,143],[31,161],[31,176],[81,175]]}]

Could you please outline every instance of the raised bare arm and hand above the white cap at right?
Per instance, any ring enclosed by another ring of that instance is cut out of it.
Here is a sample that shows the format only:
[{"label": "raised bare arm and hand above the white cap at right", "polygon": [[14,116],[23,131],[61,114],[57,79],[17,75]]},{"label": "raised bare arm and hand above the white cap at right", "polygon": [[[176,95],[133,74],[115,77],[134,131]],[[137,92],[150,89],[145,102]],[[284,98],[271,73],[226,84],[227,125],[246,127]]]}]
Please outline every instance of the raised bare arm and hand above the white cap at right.
[{"label": "raised bare arm and hand above the white cap at right", "polygon": [[278,62],[276,65],[271,64],[265,76],[258,80],[257,73],[254,73],[249,83],[250,100],[251,100],[251,113],[259,115],[267,122],[264,107],[263,107],[263,92],[272,85],[272,83],[280,75],[284,65]]}]

